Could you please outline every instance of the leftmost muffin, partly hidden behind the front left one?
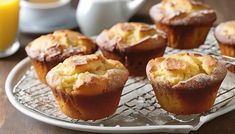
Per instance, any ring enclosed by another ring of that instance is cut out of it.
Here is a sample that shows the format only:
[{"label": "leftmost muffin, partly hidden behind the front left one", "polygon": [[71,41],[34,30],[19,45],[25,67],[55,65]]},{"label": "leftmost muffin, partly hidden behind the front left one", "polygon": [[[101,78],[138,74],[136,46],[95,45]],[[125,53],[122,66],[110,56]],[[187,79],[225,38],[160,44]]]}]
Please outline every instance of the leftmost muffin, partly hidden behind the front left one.
[{"label": "leftmost muffin, partly hidden behind the front left one", "polygon": [[96,44],[88,37],[70,30],[58,30],[30,42],[25,50],[39,80],[46,83],[47,72],[72,55],[91,54]]}]

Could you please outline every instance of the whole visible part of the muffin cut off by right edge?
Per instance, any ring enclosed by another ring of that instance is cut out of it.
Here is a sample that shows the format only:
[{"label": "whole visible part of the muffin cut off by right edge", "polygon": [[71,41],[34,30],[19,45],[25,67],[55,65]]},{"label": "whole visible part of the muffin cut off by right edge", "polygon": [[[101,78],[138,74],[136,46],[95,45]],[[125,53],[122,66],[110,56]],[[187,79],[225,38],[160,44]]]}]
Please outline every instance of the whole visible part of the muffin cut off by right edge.
[{"label": "whole visible part of the muffin cut off by right edge", "polygon": [[[235,58],[235,21],[218,25],[215,29],[215,38],[219,43],[221,53]],[[235,73],[235,65],[231,65],[228,69]]]}]

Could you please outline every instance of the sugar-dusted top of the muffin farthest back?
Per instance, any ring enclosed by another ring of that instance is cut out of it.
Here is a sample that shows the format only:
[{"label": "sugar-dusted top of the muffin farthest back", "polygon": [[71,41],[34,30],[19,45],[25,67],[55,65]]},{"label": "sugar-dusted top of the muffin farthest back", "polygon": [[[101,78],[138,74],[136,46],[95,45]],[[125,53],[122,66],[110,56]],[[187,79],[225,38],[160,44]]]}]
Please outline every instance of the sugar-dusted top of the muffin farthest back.
[{"label": "sugar-dusted top of the muffin farthest back", "polygon": [[194,0],[162,0],[149,13],[155,22],[168,25],[201,25],[216,20],[214,10]]}]

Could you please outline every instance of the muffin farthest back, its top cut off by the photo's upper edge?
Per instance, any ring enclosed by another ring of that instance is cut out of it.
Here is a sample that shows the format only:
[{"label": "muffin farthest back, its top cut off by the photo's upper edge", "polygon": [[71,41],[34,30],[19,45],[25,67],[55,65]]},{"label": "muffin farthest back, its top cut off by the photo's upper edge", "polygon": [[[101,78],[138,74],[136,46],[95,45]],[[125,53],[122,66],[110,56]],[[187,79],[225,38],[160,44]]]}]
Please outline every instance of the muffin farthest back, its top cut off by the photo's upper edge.
[{"label": "muffin farthest back, its top cut off by the photo's upper edge", "polygon": [[149,11],[156,26],[168,36],[168,46],[197,48],[204,43],[216,20],[215,11],[193,0],[162,0]]}]

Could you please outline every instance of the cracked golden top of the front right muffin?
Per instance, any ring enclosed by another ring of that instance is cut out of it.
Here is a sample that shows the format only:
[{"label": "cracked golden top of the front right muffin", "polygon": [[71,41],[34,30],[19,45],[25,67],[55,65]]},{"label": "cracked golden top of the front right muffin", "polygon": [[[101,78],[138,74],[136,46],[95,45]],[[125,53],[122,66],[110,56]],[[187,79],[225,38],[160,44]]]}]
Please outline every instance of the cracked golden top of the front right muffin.
[{"label": "cracked golden top of the front right muffin", "polygon": [[212,56],[180,53],[149,61],[147,72],[151,80],[168,83],[170,86],[200,87],[221,81],[227,69]]}]

